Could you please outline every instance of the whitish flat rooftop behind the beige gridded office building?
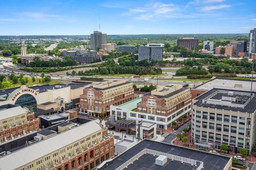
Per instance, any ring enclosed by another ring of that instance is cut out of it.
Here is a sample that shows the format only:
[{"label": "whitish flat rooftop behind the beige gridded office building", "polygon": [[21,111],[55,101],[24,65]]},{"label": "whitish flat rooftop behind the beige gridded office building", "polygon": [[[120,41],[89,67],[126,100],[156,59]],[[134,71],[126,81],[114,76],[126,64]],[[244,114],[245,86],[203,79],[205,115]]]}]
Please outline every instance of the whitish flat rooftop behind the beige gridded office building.
[{"label": "whitish flat rooftop behind the beige gridded office building", "polygon": [[[215,78],[215,79],[206,81],[195,87],[195,89],[198,89],[198,90],[210,90],[212,88],[250,91],[251,80]],[[256,80],[253,80],[252,91],[256,91]]]}]

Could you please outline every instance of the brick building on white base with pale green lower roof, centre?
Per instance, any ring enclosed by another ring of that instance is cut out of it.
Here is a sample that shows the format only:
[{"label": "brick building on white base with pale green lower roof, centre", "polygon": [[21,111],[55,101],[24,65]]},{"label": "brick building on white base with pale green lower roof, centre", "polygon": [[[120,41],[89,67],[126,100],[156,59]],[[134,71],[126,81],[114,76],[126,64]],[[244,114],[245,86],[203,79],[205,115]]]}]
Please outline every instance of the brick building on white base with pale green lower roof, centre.
[{"label": "brick building on white base with pale green lower roof, centre", "polygon": [[[138,120],[157,124],[159,129],[171,128],[172,123],[191,109],[190,89],[177,84],[169,84],[148,92],[129,103],[111,106],[110,114],[115,120]],[[136,110],[136,111],[134,111]]]}]

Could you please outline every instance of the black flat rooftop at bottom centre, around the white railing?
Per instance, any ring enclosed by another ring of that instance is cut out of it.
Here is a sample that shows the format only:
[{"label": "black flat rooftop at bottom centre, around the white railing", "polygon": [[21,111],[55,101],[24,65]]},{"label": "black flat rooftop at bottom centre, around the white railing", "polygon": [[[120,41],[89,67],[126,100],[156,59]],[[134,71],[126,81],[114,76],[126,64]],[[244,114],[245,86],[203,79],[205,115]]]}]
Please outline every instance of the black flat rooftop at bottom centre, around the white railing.
[{"label": "black flat rooftop at bottom centre, around the white railing", "polygon": [[[217,155],[217,154],[211,154],[209,152],[204,152],[200,150],[180,147],[171,145],[169,143],[162,143],[162,142],[156,142],[151,141],[148,139],[144,139],[141,142],[139,142],[134,147],[126,150],[121,155],[115,157],[110,162],[106,163],[108,166],[103,165],[100,167],[100,170],[113,170],[127,162],[127,160],[131,159],[135,155],[137,155],[140,151],[143,149],[151,149],[155,151],[161,151],[165,152],[167,154],[172,154],[175,156],[185,157],[197,160],[197,167],[199,162],[204,163],[204,169],[210,170],[222,170],[225,168],[225,166],[228,164],[229,161],[231,161],[231,157]],[[178,161],[171,161],[170,159],[167,160],[167,163],[164,164],[164,166],[157,166],[155,165],[155,159],[158,156],[145,154],[141,156],[138,160],[135,160],[133,164],[130,164],[127,166],[127,169],[135,170],[135,169],[141,169],[141,170],[148,170],[148,169],[163,169],[163,170],[177,170],[177,169],[196,169],[197,167],[191,166],[190,164],[183,163]]]}]

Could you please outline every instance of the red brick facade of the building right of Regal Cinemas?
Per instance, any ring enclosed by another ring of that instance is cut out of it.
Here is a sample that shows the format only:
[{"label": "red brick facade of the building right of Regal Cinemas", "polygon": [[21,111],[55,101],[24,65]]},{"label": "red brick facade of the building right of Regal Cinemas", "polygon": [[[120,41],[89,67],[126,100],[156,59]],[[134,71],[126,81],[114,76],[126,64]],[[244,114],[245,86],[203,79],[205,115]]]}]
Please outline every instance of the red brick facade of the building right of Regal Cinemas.
[{"label": "red brick facade of the building right of Regal Cinemas", "polygon": [[[87,97],[87,93],[91,91],[94,97]],[[134,90],[126,91],[122,94],[116,94],[108,98],[102,98],[102,90],[95,90],[93,88],[86,88],[83,90],[83,95],[80,97],[81,112],[93,111],[94,116],[98,117],[99,113],[106,116],[109,115],[110,105],[121,105],[134,99]]]}]

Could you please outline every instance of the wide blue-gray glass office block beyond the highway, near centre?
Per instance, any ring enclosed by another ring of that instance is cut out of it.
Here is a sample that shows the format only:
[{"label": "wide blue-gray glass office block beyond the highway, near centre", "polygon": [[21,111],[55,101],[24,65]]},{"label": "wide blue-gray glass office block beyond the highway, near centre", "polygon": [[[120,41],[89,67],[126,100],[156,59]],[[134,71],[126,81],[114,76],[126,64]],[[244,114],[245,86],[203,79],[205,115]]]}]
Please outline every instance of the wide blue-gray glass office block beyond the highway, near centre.
[{"label": "wide blue-gray glass office block beyond the highway, near centre", "polygon": [[141,60],[163,60],[164,44],[148,44],[139,46],[139,61]]}]

